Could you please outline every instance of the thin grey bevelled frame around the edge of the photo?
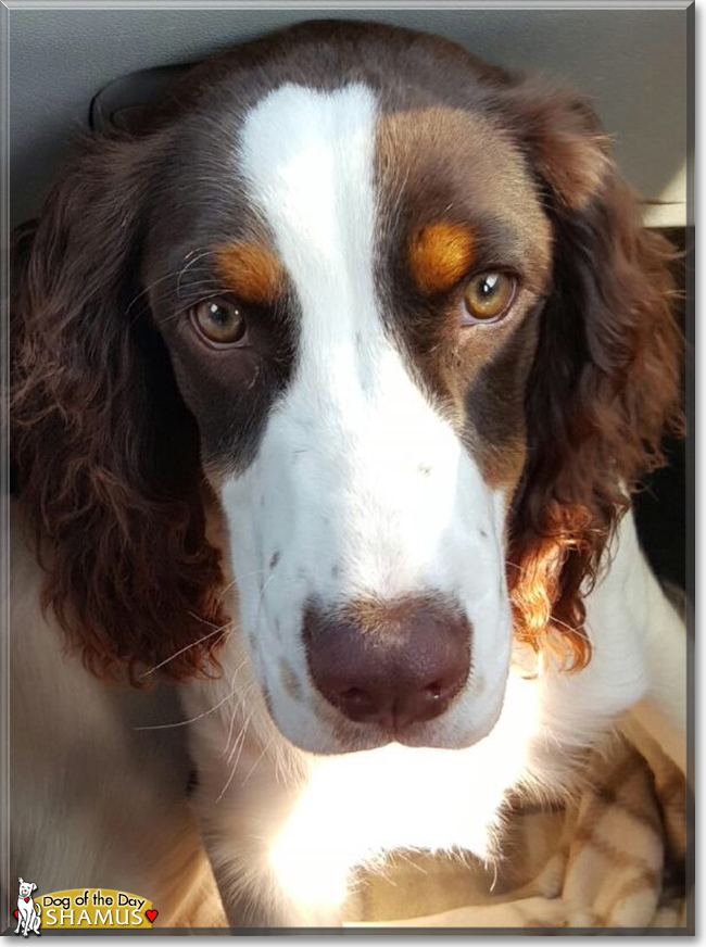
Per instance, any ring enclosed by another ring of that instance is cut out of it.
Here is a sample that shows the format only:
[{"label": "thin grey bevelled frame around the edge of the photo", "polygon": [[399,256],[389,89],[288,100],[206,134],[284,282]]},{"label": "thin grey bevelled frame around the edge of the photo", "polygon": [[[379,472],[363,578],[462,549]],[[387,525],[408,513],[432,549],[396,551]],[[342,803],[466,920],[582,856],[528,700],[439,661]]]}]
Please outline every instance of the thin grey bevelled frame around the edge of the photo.
[{"label": "thin grey bevelled frame around the edge of the photo", "polygon": [[[688,29],[688,80],[686,80],[686,111],[688,111],[688,142],[686,142],[686,233],[694,233],[694,144],[695,144],[695,87],[696,87],[696,60],[695,60],[695,34],[696,34],[696,4],[694,0],[596,0],[596,2],[573,2],[573,0],[476,0],[476,2],[419,2],[419,0],[388,0],[388,2],[371,2],[371,0],[358,0],[358,2],[331,3],[317,2],[239,2],[239,0],[206,0],[198,3],[194,0],[0,0],[0,142],[2,152],[0,155],[0,384],[1,399],[1,430],[0,430],[0,891],[3,893],[0,905],[0,931],[11,933],[12,925],[12,897],[13,880],[10,877],[10,661],[9,661],[9,598],[10,598],[10,544],[9,544],[9,516],[10,516],[10,464],[9,464],[9,299],[8,287],[10,279],[9,247],[10,247],[10,52],[11,52],[11,13],[14,10],[171,10],[171,9],[198,9],[199,11],[240,9],[240,10],[295,10],[304,17],[310,12],[330,10],[340,14],[345,11],[370,11],[380,10],[683,10],[686,15],[685,26]],[[694,818],[694,787],[695,787],[695,670],[694,670],[694,632],[695,632],[695,590],[697,568],[697,513],[696,504],[696,403],[698,399],[698,386],[696,381],[695,359],[695,266],[696,251],[693,239],[688,242],[686,254],[686,358],[685,358],[685,386],[686,386],[686,417],[690,437],[686,441],[686,593],[690,599],[688,608],[688,661],[690,668],[688,684],[688,711],[689,732],[688,747],[689,758],[686,768],[686,783],[691,791],[688,805],[688,925],[673,929],[518,929],[518,927],[454,927],[454,929],[427,929],[427,927],[344,927],[333,929],[266,929],[257,931],[234,930],[228,927],[213,929],[155,929],[152,932],[136,931],[134,934],[122,931],[42,931],[42,936],[168,936],[168,935],[203,935],[236,936],[282,935],[282,936],[378,936],[387,937],[392,934],[416,935],[436,938],[438,936],[457,936],[469,934],[474,936],[542,936],[549,933],[560,933],[562,936],[584,935],[609,935],[621,936],[640,934],[643,936],[691,936],[695,931],[695,818]]]}]

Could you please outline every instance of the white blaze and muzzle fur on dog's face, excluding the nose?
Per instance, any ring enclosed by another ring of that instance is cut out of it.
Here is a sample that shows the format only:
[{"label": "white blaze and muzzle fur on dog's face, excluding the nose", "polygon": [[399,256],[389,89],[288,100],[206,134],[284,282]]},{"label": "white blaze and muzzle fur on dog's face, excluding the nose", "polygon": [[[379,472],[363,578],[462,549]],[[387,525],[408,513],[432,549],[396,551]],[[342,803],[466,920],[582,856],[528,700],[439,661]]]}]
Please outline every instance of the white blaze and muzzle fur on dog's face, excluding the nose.
[{"label": "white blaze and muzzle fur on dog's face, excluding the nose", "polygon": [[[282,733],[318,753],[380,737],[342,716],[336,735],[316,712],[324,700],[302,643],[307,602],[326,609],[428,592],[458,601],[474,629],[471,673],[443,717],[411,732],[408,742],[425,746],[469,745],[489,732],[512,640],[502,498],[384,328],[375,277],[376,117],[364,86],[285,86],[247,117],[238,151],[301,320],[294,379],[254,463],[225,483],[222,498],[256,674]],[[281,662],[297,674],[300,699],[282,687]]]}]

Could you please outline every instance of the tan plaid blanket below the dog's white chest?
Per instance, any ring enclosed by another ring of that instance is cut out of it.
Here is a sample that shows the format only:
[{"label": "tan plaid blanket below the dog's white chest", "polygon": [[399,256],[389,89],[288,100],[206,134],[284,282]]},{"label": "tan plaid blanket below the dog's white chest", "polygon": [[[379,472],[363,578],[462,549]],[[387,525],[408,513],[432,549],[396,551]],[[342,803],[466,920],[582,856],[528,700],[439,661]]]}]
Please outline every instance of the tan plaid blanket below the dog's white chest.
[{"label": "tan plaid blanket below the dog's white chest", "polygon": [[570,801],[513,800],[500,863],[400,855],[363,879],[349,923],[685,926],[685,779],[640,724],[628,732],[593,752]]}]

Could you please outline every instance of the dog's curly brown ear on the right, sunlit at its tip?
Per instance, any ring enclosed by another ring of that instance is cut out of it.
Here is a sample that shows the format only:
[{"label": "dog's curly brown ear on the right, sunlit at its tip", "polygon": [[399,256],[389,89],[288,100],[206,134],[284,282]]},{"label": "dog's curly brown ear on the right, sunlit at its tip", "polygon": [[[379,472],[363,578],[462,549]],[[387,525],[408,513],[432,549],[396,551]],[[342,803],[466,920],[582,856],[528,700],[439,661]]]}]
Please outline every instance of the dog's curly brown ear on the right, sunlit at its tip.
[{"label": "dog's curly brown ear on the right, sunlit at its tip", "polygon": [[512,594],[520,637],[539,645],[554,627],[582,667],[582,595],[630,493],[664,462],[663,432],[681,431],[675,254],[642,228],[584,102],[538,97],[528,84],[505,106],[525,136],[555,242],[529,381],[529,457],[512,518]]}]

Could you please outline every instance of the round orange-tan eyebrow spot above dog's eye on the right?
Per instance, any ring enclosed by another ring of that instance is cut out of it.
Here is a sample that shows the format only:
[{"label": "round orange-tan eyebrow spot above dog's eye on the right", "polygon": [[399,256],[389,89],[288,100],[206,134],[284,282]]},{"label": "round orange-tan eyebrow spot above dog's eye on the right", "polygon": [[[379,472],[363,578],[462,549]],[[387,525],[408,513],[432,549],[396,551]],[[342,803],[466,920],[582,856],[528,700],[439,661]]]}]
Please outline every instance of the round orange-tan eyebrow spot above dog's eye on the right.
[{"label": "round orange-tan eyebrow spot above dog's eye on the right", "polygon": [[451,289],[472,262],[474,235],[463,224],[430,224],[412,235],[409,267],[426,295]]}]

